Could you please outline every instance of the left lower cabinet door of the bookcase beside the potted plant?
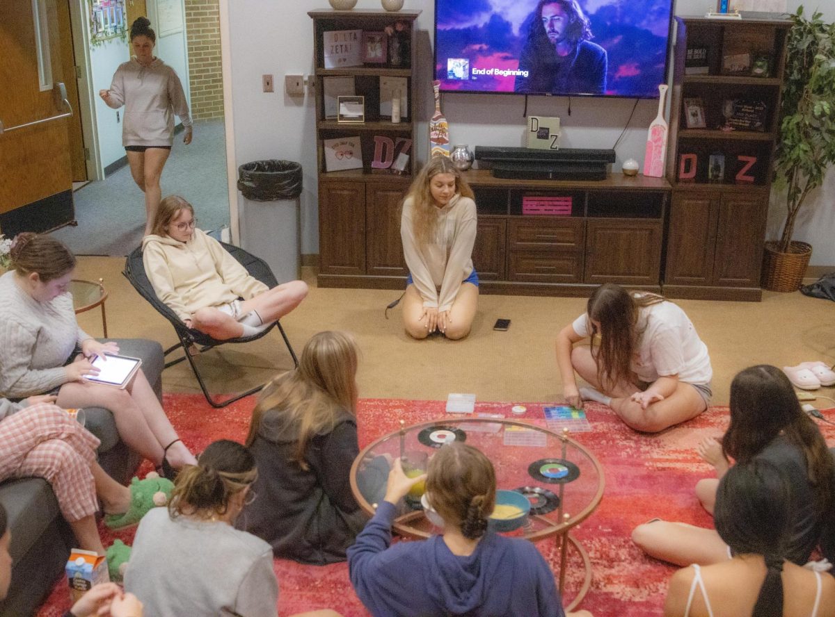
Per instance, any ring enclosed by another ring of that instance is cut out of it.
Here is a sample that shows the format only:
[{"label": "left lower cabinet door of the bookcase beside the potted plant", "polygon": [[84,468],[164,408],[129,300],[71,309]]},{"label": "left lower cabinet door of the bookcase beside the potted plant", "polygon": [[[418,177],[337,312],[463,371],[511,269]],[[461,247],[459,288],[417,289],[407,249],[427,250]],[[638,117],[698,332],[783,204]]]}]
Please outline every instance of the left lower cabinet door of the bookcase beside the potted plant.
[{"label": "left lower cabinet door of the bookcase beside the potted plant", "polygon": [[717,210],[718,197],[712,193],[674,193],[667,235],[666,284],[711,283]]}]

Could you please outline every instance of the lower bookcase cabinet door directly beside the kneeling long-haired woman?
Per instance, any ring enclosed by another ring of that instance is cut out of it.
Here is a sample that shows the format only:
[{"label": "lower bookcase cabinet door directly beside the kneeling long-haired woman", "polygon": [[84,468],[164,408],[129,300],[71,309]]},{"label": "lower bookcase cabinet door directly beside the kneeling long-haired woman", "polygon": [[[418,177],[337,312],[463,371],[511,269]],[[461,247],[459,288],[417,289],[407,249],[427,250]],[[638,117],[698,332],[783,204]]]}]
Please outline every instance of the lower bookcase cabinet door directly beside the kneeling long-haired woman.
[{"label": "lower bookcase cabinet door directly beside the kneeling long-haired woman", "polygon": [[366,272],[406,276],[400,241],[400,202],[408,185],[366,185]]}]

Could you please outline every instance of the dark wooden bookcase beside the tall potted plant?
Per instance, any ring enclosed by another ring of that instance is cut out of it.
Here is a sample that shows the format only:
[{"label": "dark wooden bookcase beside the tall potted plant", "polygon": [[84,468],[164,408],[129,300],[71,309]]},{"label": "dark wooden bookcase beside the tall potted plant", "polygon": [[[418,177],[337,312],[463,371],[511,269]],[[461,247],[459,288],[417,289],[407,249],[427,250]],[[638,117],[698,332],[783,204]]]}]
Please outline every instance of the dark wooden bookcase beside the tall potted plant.
[{"label": "dark wooden bookcase beside the tall potted plant", "polygon": [[[762,247],[791,22],[748,18],[682,21],[684,27],[680,23],[676,43],[668,144],[672,201],[664,293],[670,298],[758,301],[762,298]],[[694,74],[692,68],[686,71],[687,50],[700,48],[706,50],[704,73]],[[755,77],[751,70],[731,73],[730,57],[740,54],[748,54],[751,64],[757,57],[766,58],[767,76]],[[687,103],[694,99],[701,102],[704,128],[688,128],[688,112],[694,106]],[[737,102],[736,110],[730,103],[733,101]],[[757,107],[761,111],[751,114]],[[746,112],[752,123],[762,120],[762,126],[746,128],[742,118]],[[723,128],[728,123],[736,125],[735,130]],[[741,173],[751,158],[756,162]],[[694,171],[695,176],[687,178]],[[740,173],[743,178],[737,178]]]}]

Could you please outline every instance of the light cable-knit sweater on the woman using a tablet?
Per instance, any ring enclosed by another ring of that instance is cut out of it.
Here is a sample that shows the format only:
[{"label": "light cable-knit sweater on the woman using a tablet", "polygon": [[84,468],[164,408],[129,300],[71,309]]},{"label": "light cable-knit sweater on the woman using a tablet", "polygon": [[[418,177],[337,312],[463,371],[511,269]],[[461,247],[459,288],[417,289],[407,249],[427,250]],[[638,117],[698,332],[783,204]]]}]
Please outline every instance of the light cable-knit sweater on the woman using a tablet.
[{"label": "light cable-knit sweater on the woman using a tablet", "polygon": [[90,338],[78,328],[69,293],[38,302],[13,272],[0,277],[0,396],[23,399],[66,383],[63,364]]}]

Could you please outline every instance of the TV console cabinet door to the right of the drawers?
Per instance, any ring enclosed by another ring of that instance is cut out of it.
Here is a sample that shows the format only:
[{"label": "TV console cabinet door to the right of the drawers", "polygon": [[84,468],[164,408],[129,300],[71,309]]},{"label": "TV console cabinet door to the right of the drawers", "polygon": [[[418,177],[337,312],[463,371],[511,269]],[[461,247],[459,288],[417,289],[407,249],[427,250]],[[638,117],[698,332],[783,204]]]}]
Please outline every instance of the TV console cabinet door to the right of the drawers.
[{"label": "TV console cabinet door to the right of the drawers", "polygon": [[590,218],[585,227],[584,283],[658,285],[661,222]]}]

